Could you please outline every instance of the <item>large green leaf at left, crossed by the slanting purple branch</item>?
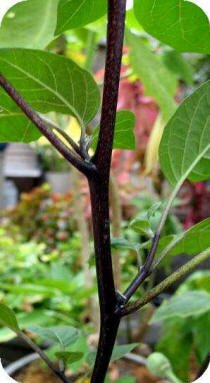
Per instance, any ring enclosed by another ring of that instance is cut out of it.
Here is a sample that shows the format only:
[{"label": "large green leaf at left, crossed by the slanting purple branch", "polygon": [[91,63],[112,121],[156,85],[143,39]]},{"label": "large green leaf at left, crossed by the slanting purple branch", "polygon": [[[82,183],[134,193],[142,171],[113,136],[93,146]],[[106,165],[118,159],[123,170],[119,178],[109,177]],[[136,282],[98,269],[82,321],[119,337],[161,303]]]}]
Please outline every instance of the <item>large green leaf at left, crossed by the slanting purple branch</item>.
[{"label": "large green leaf at left, crossed by the slanting purple branch", "polygon": [[[65,57],[30,49],[1,49],[0,72],[38,112],[71,114],[87,125],[98,110],[100,96],[94,79]],[[29,142],[39,136],[3,90],[0,108],[1,142]]]}]

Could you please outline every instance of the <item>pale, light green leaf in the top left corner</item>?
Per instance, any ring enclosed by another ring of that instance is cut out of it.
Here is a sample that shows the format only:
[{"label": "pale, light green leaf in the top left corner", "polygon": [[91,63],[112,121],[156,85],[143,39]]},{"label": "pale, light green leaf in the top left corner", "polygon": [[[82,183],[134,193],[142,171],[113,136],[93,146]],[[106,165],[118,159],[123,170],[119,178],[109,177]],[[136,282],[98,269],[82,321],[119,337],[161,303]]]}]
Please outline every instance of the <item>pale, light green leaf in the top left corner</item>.
[{"label": "pale, light green leaf in the top left corner", "polygon": [[15,4],[3,18],[0,48],[45,48],[54,39],[57,6],[58,0]]}]

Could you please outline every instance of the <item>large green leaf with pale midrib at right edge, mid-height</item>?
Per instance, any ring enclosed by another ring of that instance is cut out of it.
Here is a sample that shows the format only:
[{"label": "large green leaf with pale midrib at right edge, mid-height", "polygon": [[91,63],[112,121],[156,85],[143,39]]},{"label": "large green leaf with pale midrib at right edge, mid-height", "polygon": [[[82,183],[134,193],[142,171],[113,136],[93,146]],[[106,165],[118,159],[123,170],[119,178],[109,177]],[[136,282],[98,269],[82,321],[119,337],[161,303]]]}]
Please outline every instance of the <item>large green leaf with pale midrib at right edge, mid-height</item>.
[{"label": "large green leaf with pale midrib at right edge, mid-height", "polygon": [[163,173],[173,185],[210,177],[210,81],[180,105],[159,148]]}]

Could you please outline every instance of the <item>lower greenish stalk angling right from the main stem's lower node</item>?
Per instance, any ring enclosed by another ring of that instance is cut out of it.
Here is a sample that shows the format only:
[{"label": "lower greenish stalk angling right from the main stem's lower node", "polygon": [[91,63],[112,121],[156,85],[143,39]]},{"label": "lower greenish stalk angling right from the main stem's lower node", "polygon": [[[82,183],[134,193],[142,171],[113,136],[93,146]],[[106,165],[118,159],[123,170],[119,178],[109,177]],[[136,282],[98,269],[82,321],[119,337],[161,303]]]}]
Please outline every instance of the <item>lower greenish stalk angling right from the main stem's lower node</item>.
[{"label": "lower greenish stalk angling right from the main stem's lower node", "polygon": [[174,282],[183,278],[185,275],[193,271],[197,266],[202,262],[207,260],[210,257],[210,248],[206,249],[202,253],[196,255],[192,260],[187,262],[184,266],[180,267],[177,271],[172,273],[169,277],[164,279],[159,285],[155,286],[150,292],[148,292],[143,298],[137,300],[136,302],[125,306],[121,315],[125,316],[133,312],[138,311],[140,308],[145,306],[147,303],[151,302],[152,299],[161,294],[164,290],[170,287]]}]

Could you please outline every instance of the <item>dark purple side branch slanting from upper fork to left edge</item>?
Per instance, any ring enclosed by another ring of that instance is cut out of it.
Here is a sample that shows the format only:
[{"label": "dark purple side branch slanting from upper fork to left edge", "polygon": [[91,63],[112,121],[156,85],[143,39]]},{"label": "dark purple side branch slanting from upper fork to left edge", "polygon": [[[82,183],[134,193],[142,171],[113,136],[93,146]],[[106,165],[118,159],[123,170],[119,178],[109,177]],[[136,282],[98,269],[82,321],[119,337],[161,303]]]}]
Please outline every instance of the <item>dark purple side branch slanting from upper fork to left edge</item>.
[{"label": "dark purple side branch slanting from upper fork to left edge", "polygon": [[40,132],[51,142],[51,144],[62,154],[62,156],[80,170],[83,174],[89,175],[94,171],[93,164],[81,160],[75,155],[67,146],[53,133],[47,124],[41,119],[30,105],[22,98],[17,90],[7,81],[7,79],[0,75],[0,86],[4,88],[7,94],[19,106],[23,113],[29,118],[31,122],[36,125]]}]

